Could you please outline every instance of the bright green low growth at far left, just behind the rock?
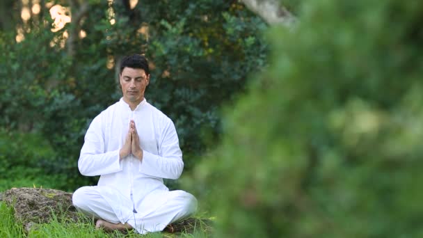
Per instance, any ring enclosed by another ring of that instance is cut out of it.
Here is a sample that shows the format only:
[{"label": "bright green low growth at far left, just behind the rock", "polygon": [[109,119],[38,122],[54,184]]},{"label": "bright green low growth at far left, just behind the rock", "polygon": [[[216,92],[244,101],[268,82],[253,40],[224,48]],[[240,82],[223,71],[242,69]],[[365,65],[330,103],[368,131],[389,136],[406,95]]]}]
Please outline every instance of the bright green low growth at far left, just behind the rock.
[{"label": "bright green low growth at far left, just behind the rock", "polygon": [[11,187],[67,187],[55,152],[41,134],[0,130],[0,191]]}]

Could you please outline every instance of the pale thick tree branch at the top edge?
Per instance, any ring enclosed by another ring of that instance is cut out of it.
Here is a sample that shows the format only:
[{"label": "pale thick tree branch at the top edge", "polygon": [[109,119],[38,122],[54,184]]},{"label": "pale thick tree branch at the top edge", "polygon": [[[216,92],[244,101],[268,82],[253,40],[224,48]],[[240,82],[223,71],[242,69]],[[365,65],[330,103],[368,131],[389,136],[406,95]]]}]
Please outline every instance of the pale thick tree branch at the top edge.
[{"label": "pale thick tree branch at the top edge", "polygon": [[241,0],[248,9],[259,15],[268,24],[292,26],[296,17],[280,4],[278,0]]}]

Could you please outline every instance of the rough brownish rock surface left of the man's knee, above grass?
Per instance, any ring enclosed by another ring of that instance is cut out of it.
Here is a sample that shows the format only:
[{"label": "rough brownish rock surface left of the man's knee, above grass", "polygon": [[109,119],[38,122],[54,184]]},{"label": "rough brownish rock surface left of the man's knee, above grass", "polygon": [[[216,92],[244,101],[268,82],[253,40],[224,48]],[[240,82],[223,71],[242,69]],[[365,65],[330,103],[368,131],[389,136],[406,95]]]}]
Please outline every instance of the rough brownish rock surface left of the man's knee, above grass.
[{"label": "rough brownish rock surface left of the man's knee, above grass", "polygon": [[[28,232],[37,223],[77,221],[77,210],[72,205],[72,193],[56,189],[13,188],[0,194],[0,200],[15,210],[15,219]],[[54,216],[52,216],[54,214]]]}]

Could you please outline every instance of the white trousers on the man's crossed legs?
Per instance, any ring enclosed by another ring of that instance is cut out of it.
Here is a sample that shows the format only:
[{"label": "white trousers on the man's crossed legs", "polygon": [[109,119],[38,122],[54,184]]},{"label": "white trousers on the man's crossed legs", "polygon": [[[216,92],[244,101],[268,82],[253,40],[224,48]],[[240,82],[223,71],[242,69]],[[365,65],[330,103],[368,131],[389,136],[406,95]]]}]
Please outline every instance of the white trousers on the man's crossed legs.
[{"label": "white trousers on the man's crossed legs", "polygon": [[[115,204],[111,204],[109,198],[104,198],[107,194],[113,196]],[[193,214],[197,209],[197,200],[185,191],[159,191],[151,196],[158,194],[168,199],[161,204],[144,204],[142,207],[149,207],[148,212],[134,211],[131,198],[104,186],[77,189],[72,196],[72,203],[83,214],[111,223],[128,223],[140,234],[161,231],[166,228],[166,225]]]}]

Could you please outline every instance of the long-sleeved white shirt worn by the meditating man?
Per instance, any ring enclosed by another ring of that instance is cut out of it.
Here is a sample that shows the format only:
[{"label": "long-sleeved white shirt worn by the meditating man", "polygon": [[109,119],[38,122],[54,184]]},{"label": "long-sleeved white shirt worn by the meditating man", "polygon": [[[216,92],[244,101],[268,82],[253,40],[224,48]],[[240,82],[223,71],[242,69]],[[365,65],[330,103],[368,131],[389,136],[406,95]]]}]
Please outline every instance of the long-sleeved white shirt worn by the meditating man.
[{"label": "long-sleeved white shirt worn by the meditating man", "polygon": [[[131,154],[119,158],[130,120],[134,120],[140,138],[142,162]],[[184,162],[172,120],[145,99],[131,111],[121,98],[91,122],[78,168],[82,175],[100,175],[99,186],[113,187],[127,198],[132,195],[134,206],[145,210],[147,207],[139,207],[143,198],[154,191],[168,191],[163,178],[176,180]],[[160,196],[150,202],[159,202],[157,199]]]}]

